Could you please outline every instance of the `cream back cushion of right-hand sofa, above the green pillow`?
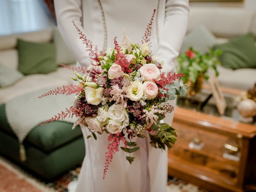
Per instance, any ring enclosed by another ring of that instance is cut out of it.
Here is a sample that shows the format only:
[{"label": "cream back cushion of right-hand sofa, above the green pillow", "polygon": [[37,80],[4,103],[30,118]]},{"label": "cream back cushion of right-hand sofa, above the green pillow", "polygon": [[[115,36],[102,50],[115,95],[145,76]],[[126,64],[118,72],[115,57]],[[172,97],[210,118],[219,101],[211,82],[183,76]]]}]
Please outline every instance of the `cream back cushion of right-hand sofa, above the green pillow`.
[{"label": "cream back cushion of right-hand sofa, above the green pillow", "polygon": [[254,13],[241,8],[191,7],[188,31],[203,24],[217,37],[244,35],[251,31]]}]

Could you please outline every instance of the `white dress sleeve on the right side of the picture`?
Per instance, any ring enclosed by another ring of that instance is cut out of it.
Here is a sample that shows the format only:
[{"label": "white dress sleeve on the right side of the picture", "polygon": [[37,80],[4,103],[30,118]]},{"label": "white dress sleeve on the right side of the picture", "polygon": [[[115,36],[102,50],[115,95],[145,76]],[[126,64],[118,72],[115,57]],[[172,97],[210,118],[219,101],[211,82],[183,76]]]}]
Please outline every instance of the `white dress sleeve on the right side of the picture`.
[{"label": "white dress sleeve on the right side of the picture", "polygon": [[165,60],[164,71],[175,69],[183,38],[186,34],[189,0],[167,0],[164,28],[160,31],[157,56]]}]

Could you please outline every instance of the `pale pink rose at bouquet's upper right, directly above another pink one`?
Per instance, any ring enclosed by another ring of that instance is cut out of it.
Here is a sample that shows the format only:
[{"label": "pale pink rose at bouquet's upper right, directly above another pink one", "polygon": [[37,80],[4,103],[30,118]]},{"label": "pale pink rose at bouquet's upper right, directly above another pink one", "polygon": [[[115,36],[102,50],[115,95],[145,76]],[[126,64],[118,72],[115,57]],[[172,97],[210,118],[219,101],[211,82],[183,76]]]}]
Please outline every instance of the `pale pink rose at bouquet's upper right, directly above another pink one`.
[{"label": "pale pink rose at bouquet's upper right, directly above another pink one", "polygon": [[140,74],[146,81],[158,80],[160,77],[160,70],[155,64],[145,64],[140,68]]}]

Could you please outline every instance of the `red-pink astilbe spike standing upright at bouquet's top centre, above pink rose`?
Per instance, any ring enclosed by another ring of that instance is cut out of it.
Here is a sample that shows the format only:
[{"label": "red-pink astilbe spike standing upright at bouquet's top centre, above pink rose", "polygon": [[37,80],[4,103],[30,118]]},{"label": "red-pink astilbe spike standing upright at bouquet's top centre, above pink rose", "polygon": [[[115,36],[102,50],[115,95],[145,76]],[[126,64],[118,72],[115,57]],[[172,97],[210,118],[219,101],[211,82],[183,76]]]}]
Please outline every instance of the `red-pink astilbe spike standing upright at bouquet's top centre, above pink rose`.
[{"label": "red-pink astilbe spike standing upright at bouquet's top centre, above pink rose", "polygon": [[120,47],[120,45],[118,44],[118,42],[116,41],[116,37],[114,38],[114,44],[115,44],[115,50],[116,50],[116,60],[115,60],[115,64],[118,64],[122,67],[122,70],[124,72],[128,72],[131,73],[133,71],[132,68],[129,69],[131,63],[133,62],[133,60],[128,61],[126,59],[125,54],[122,52],[122,48]]}]

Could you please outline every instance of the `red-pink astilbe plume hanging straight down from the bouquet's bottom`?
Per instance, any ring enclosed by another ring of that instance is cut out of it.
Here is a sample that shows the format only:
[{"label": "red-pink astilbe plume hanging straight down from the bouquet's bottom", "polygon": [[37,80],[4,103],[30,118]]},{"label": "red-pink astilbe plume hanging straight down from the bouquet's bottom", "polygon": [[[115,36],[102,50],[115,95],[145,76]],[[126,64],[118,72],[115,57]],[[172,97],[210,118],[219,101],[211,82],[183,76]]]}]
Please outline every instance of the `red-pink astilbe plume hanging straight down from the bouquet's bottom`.
[{"label": "red-pink astilbe plume hanging straight down from the bouquet's bottom", "polygon": [[105,176],[108,171],[108,166],[112,162],[113,155],[119,151],[120,141],[122,141],[124,146],[127,147],[126,138],[120,132],[116,134],[110,134],[108,136],[108,142],[110,143],[108,144],[108,151],[106,152],[106,162],[104,166],[103,179],[105,179]]}]

